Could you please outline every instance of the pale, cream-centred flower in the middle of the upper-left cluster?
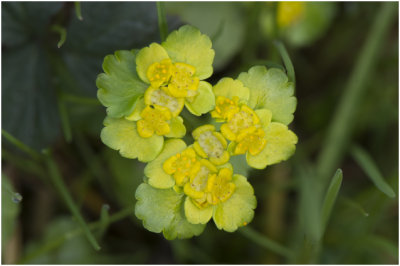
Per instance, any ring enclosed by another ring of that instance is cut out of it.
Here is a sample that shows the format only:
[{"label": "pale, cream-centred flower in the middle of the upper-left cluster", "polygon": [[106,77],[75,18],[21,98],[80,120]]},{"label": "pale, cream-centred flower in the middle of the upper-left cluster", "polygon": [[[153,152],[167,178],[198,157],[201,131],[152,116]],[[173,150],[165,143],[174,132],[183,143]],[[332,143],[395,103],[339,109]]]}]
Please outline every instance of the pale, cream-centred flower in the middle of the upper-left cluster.
[{"label": "pale, cream-centred flower in the middle of the upper-left cluster", "polygon": [[162,89],[149,87],[144,96],[144,102],[147,105],[159,105],[169,109],[172,116],[177,116],[182,111],[185,100],[168,95]]}]

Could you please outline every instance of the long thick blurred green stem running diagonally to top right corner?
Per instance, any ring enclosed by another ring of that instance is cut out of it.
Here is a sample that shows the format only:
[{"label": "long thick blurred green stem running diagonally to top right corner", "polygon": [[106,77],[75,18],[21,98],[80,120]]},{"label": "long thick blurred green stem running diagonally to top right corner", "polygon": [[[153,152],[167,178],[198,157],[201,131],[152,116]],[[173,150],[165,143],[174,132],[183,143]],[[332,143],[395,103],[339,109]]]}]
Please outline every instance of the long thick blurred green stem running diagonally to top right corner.
[{"label": "long thick blurred green stem running diagonally to top right corner", "polygon": [[321,180],[320,193],[324,190],[330,173],[334,171],[340,162],[351,139],[352,126],[356,120],[354,116],[359,107],[360,99],[366,88],[368,88],[366,82],[370,77],[372,67],[375,66],[374,62],[380,51],[381,44],[385,42],[386,33],[396,15],[396,3],[384,2],[380,6],[365,45],[344,87],[342,98],[333,116],[333,122],[328,128],[328,134],[317,161],[317,171]]}]

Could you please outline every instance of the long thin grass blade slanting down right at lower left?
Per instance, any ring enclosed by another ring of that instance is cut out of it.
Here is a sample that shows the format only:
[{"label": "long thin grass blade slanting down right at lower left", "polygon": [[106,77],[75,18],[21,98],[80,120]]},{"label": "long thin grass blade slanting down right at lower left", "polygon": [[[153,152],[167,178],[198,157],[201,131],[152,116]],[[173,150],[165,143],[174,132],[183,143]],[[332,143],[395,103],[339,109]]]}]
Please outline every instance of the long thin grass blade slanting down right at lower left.
[{"label": "long thin grass blade slanting down right at lower left", "polygon": [[97,251],[100,250],[99,244],[97,243],[93,234],[90,232],[85,220],[83,219],[82,215],[80,214],[80,212],[78,210],[78,207],[74,203],[71,194],[69,193],[67,187],[65,186],[65,184],[62,180],[62,177],[61,177],[61,173],[60,173],[55,161],[53,160],[53,158],[51,156],[50,150],[49,149],[44,150],[43,154],[45,155],[44,160],[47,165],[49,176],[50,176],[51,180],[53,181],[55,187],[60,192],[61,197],[65,201],[65,203],[66,203],[67,207],[69,208],[69,210],[71,211],[72,215],[78,221],[79,225],[81,226],[81,228],[82,228],[83,232],[85,233],[86,238],[88,239],[90,244],[92,244],[92,246],[95,250],[97,250]]}]

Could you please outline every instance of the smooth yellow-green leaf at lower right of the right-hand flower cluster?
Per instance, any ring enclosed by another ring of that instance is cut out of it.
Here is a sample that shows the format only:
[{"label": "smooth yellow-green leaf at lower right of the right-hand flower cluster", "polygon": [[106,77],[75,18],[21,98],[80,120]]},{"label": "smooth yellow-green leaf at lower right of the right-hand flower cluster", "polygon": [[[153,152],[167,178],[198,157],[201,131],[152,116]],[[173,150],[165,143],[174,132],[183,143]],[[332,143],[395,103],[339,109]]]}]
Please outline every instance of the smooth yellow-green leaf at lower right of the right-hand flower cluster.
[{"label": "smooth yellow-green leaf at lower right of the right-hand flower cluster", "polygon": [[257,169],[288,159],[296,150],[297,136],[286,125],[272,122],[265,130],[265,148],[257,155],[246,155],[247,163]]}]

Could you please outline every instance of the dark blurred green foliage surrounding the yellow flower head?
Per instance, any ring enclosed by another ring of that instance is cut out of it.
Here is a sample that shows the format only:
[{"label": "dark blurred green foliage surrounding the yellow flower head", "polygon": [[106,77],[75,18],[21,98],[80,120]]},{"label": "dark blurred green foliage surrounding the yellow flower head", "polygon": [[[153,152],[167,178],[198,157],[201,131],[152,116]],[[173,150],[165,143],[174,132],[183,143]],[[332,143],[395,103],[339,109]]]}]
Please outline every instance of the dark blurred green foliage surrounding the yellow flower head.
[{"label": "dark blurred green foliage surrounding the yellow flower head", "polygon": [[[170,30],[192,24],[212,39],[213,84],[255,64],[283,68],[275,40],[294,65],[296,154],[262,171],[235,161],[258,199],[250,227],[226,233],[210,223],[174,241],[146,231],[133,214],[144,164],[100,141],[102,60],[160,41],[154,2],[3,2],[2,262],[397,264],[398,4],[165,10]],[[183,115],[189,130],[209,119]],[[332,178],[337,168],[343,179]]]}]

